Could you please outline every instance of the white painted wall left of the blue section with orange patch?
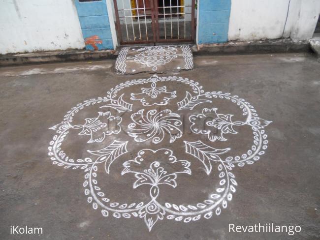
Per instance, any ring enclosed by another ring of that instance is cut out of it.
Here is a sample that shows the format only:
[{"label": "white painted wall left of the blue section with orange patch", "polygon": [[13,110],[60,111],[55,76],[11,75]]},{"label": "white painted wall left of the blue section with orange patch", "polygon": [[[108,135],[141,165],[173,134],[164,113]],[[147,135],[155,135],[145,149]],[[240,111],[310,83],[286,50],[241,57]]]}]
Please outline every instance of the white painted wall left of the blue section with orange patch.
[{"label": "white painted wall left of the blue section with orange patch", "polygon": [[84,47],[72,0],[0,0],[0,54]]}]

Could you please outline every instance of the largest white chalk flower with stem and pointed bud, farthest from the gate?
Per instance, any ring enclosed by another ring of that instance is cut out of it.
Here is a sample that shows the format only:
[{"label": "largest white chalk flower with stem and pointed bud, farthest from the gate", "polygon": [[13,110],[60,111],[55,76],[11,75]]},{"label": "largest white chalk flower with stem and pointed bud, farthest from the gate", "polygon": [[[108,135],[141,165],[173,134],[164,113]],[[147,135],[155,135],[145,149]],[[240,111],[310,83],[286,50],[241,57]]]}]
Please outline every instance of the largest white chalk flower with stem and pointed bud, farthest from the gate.
[{"label": "largest white chalk flower with stem and pointed bud, farthest from the gate", "polygon": [[[155,159],[159,161],[155,161]],[[125,168],[121,175],[133,173],[137,179],[133,183],[133,188],[144,184],[151,186],[150,197],[152,200],[143,209],[139,210],[139,217],[144,218],[149,231],[158,220],[163,219],[165,214],[156,200],[159,195],[159,185],[168,184],[175,188],[178,174],[191,175],[190,165],[189,161],[177,160],[172,150],[169,149],[143,149],[138,152],[134,160],[123,163]]]}]

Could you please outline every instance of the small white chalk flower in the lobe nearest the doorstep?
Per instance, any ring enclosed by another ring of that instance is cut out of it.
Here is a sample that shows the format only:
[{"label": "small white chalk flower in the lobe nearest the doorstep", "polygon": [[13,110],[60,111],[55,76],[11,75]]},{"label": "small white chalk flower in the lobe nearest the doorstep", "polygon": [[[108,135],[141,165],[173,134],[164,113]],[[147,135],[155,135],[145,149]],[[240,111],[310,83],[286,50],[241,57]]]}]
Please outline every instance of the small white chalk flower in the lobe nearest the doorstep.
[{"label": "small white chalk flower in the lobe nearest the doorstep", "polygon": [[[151,84],[151,88],[141,88],[142,92],[140,93],[131,93],[131,100],[140,100],[143,106],[152,106],[152,105],[166,105],[168,101],[172,98],[175,98],[176,91],[168,92],[165,86],[157,88],[156,83]],[[156,99],[158,95],[161,95],[161,102],[155,102],[150,104],[149,102]],[[163,97],[162,97],[163,96]]]}]

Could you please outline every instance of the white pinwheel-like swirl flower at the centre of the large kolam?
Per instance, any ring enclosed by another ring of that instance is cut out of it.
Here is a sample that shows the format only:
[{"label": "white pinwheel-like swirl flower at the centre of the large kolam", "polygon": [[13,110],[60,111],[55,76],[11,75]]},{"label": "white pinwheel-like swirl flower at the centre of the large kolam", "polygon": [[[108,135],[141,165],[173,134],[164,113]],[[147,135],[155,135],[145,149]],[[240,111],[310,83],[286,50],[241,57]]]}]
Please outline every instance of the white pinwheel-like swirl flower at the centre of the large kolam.
[{"label": "white pinwheel-like swirl flower at the centre of the large kolam", "polygon": [[182,125],[179,120],[179,114],[171,113],[171,110],[166,109],[157,113],[157,110],[150,110],[144,116],[144,109],[141,109],[131,115],[134,123],[128,125],[128,135],[134,137],[136,142],[144,142],[152,139],[155,144],[160,143],[164,138],[164,132],[170,134],[170,143],[173,143],[177,138],[182,136],[182,131],[178,126]]}]

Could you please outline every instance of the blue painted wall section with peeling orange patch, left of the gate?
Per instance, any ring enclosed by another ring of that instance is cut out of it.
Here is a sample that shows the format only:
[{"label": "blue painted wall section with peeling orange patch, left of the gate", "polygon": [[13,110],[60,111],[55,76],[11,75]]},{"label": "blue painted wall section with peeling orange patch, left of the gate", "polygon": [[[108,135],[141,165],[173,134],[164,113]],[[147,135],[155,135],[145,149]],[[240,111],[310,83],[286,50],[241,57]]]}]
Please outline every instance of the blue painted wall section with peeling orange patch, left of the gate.
[{"label": "blue painted wall section with peeling orange patch, left of the gate", "polygon": [[[113,49],[108,10],[105,0],[75,0],[87,50]],[[67,23],[66,23],[67,24]]]}]

